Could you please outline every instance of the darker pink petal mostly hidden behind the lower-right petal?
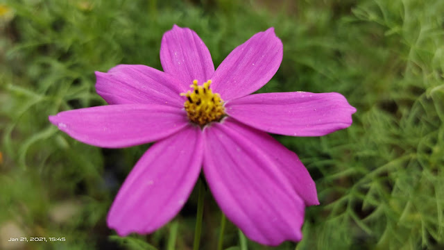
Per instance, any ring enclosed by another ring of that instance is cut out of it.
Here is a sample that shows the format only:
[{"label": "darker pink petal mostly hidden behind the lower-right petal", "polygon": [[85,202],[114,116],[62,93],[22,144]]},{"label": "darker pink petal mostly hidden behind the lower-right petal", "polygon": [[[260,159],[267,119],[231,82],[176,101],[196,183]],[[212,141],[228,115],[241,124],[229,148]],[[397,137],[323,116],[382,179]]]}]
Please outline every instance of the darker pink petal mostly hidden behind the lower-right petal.
[{"label": "darker pink petal mostly hidden behind the lower-right petal", "polygon": [[305,205],[319,205],[316,184],[305,166],[300,162],[296,153],[284,147],[271,135],[241,124],[231,117],[226,118],[223,125],[237,131],[253,142],[253,144],[260,145],[262,149],[273,152],[272,157],[275,165],[277,165],[278,169],[289,179],[299,197],[305,201]]}]

